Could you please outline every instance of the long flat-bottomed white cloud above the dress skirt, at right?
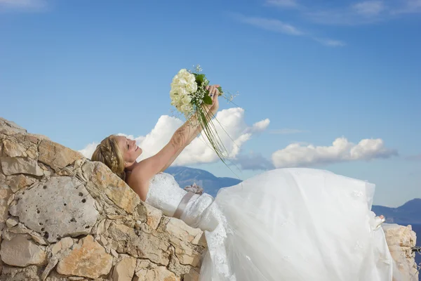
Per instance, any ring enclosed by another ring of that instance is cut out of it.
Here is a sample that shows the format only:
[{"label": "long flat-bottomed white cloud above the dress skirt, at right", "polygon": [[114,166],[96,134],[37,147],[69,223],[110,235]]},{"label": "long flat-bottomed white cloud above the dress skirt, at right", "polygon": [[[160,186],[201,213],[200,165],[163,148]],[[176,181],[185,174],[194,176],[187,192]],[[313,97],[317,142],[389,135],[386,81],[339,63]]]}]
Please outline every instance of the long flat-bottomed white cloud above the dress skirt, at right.
[{"label": "long flat-bottomed white cloud above the dress skirt, at right", "polygon": [[396,150],[385,148],[382,139],[363,139],[358,144],[346,138],[337,138],[330,146],[301,145],[293,143],[272,154],[276,168],[291,166],[316,166],[335,162],[370,160],[397,155]]}]

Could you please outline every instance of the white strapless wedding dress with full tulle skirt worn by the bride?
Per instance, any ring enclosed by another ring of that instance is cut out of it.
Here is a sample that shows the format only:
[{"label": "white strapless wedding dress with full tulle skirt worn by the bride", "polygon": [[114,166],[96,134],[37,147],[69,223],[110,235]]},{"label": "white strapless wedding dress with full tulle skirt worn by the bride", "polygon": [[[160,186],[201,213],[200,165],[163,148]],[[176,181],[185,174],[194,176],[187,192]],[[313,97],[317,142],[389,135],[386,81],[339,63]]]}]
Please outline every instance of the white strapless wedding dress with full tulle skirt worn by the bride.
[{"label": "white strapless wedding dress with full tulle skirt worn by the bride", "polygon": [[[146,202],[174,216],[186,194],[157,174]],[[373,195],[373,184],[329,171],[275,169],[215,198],[192,195],[180,218],[205,231],[201,281],[398,280]]]}]

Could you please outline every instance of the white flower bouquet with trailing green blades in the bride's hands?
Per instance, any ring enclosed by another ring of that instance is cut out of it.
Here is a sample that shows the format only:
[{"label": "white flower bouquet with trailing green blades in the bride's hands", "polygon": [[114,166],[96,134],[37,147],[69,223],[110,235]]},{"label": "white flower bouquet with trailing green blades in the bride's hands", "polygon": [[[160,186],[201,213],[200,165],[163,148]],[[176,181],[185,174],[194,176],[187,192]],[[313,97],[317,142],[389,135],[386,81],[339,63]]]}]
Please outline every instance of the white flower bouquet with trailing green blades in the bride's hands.
[{"label": "white flower bouquet with trailing green blades in the bride's hands", "polygon": [[[187,120],[192,116],[196,117],[213,150],[225,163],[224,158],[227,155],[225,153],[227,150],[222,144],[213,122],[210,122],[214,117],[213,113],[203,109],[204,105],[212,105],[212,97],[206,89],[209,81],[206,79],[205,74],[199,72],[201,72],[201,68],[198,65],[195,71],[182,69],[173,77],[170,91],[171,105],[175,106],[178,112],[182,113]],[[229,101],[232,101],[232,98],[234,98],[230,94],[229,96],[225,95],[221,87],[218,87],[218,90],[220,92],[219,95],[223,98]],[[218,122],[218,120],[216,121]]]}]

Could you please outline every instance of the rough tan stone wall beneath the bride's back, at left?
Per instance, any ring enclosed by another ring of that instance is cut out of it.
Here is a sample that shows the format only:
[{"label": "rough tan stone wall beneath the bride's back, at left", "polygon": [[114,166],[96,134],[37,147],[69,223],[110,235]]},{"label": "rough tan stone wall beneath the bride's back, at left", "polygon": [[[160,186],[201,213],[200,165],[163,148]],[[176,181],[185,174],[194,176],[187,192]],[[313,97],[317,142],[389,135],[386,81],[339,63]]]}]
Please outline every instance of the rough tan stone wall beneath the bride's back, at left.
[{"label": "rough tan stone wall beneath the bride's back, at left", "polygon": [[0,118],[0,280],[197,280],[203,232],[102,163]]}]

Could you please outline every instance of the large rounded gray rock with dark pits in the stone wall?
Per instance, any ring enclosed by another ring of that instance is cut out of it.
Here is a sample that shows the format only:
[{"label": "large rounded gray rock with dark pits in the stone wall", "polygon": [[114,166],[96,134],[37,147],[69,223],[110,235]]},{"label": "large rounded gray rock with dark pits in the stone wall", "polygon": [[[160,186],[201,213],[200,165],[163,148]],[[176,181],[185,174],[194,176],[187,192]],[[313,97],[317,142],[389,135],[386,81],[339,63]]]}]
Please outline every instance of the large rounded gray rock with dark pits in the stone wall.
[{"label": "large rounded gray rock with dark pits in the stone wall", "polygon": [[86,235],[97,221],[95,200],[76,179],[52,177],[15,195],[18,203],[10,207],[13,216],[48,242],[60,237]]}]

